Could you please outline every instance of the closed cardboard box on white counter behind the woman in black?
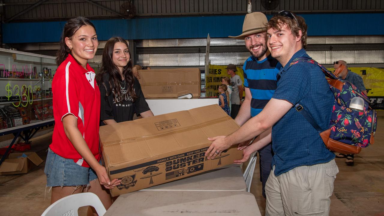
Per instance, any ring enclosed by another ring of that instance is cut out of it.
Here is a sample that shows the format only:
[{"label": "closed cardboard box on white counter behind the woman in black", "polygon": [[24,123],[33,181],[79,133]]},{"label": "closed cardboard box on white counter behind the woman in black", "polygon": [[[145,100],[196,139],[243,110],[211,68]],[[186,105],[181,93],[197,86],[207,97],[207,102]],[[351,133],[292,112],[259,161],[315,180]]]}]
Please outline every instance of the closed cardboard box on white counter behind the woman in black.
[{"label": "closed cardboard box on white counter behind the woman in black", "polygon": [[141,90],[146,98],[172,98],[191,93],[200,97],[199,68],[139,70]]}]

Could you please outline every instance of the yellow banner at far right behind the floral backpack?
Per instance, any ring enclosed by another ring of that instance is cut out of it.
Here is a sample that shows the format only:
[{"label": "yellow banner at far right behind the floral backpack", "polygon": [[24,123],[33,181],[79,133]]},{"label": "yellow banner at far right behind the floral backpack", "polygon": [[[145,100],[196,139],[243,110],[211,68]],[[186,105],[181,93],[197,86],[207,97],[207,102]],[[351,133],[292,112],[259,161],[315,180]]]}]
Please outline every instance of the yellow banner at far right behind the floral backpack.
[{"label": "yellow banner at far right behind the floral backpack", "polygon": [[[334,71],[334,68],[327,68]],[[374,109],[384,109],[384,69],[382,68],[348,68],[361,76],[368,91],[371,106]]]}]

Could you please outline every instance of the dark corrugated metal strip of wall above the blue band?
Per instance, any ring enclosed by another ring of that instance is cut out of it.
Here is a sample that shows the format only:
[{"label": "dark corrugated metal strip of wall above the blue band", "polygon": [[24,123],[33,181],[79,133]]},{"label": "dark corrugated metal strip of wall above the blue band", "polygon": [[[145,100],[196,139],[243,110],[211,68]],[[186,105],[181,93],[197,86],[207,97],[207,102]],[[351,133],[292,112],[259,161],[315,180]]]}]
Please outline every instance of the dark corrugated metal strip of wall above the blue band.
[{"label": "dark corrugated metal strip of wall above the blue band", "polygon": [[[124,11],[136,16],[238,14],[247,10],[248,0],[3,0],[5,22],[122,18]],[[38,4],[38,5],[37,5]],[[37,5],[37,6],[35,6]],[[346,12],[383,11],[383,0],[252,0],[252,11]]]}]

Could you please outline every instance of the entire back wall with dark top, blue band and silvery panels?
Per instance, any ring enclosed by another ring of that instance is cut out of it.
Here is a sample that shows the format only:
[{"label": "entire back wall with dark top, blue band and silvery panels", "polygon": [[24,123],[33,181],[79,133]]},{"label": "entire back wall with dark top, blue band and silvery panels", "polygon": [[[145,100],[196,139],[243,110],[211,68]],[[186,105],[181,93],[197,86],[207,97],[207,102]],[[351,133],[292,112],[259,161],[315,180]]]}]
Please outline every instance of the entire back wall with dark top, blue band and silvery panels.
[{"label": "entire back wall with dark top, blue band and silvery panels", "polygon": [[[3,34],[7,36],[11,33],[8,38],[13,39],[13,42],[7,43],[20,43],[14,44],[13,47],[26,52],[54,52],[55,49],[44,50],[40,49],[44,46],[38,43],[27,42],[57,42],[64,21],[81,15],[94,20],[101,40],[108,40],[116,35],[130,40],[136,39],[135,59],[140,65],[203,66],[206,39],[202,38],[205,38],[207,33],[213,37],[210,52],[212,64],[242,65],[249,56],[242,40],[225,38],[241,32],[248,0],[132,0],[136,15],[142,16],[132,20],[113,19],[126,16],[122,14],[127,8],[122,8],[122,5],[125,4],[126,7],[129,1],[3,0],[2,3],[3,20],[10,22],[3,24]],[[384,0],[252,0],[252,10],[268,11],[266,14],[291,10],[302,14],[307,23],[310,23],[309,35],[325,35],[308,38],[308,53],[322,64],[330,64],[340,59],[350,64],[384,63]],[[161,17],[171,15],[179,17]],[[189,17],[186,17],[187,15]],[[157,17],[143,18],[145,16]],[[97,18],[101,20],[96,20]],[[37,20],[44,22],[31,23]],[[63,22],[47,22],[53,20]],[[341,28],[340,24],[333,24],[335,20],[342,22],[344,28]],[[56,23],[55,28],[52,23]],[[225,26],[221,26],[222,23]],[[362,34],[368,36],[348,36]],[[20,41],[15,41],[15,38]],[[151,38],[168,39],[138,40]]]}]

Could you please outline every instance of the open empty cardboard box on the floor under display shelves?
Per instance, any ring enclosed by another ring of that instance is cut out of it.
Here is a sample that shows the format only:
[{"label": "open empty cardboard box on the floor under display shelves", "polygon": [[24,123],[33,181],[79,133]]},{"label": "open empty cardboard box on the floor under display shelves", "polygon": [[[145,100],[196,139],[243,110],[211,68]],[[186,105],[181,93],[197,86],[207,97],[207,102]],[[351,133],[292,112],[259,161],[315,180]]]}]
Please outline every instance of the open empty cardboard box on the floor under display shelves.
[{"label": "open empty cardboard box on the floor under display shelves", "polygon": [[35,152],[10,153],[0,166],[0,175],[28,173],[41,163],[43,160]]}]

